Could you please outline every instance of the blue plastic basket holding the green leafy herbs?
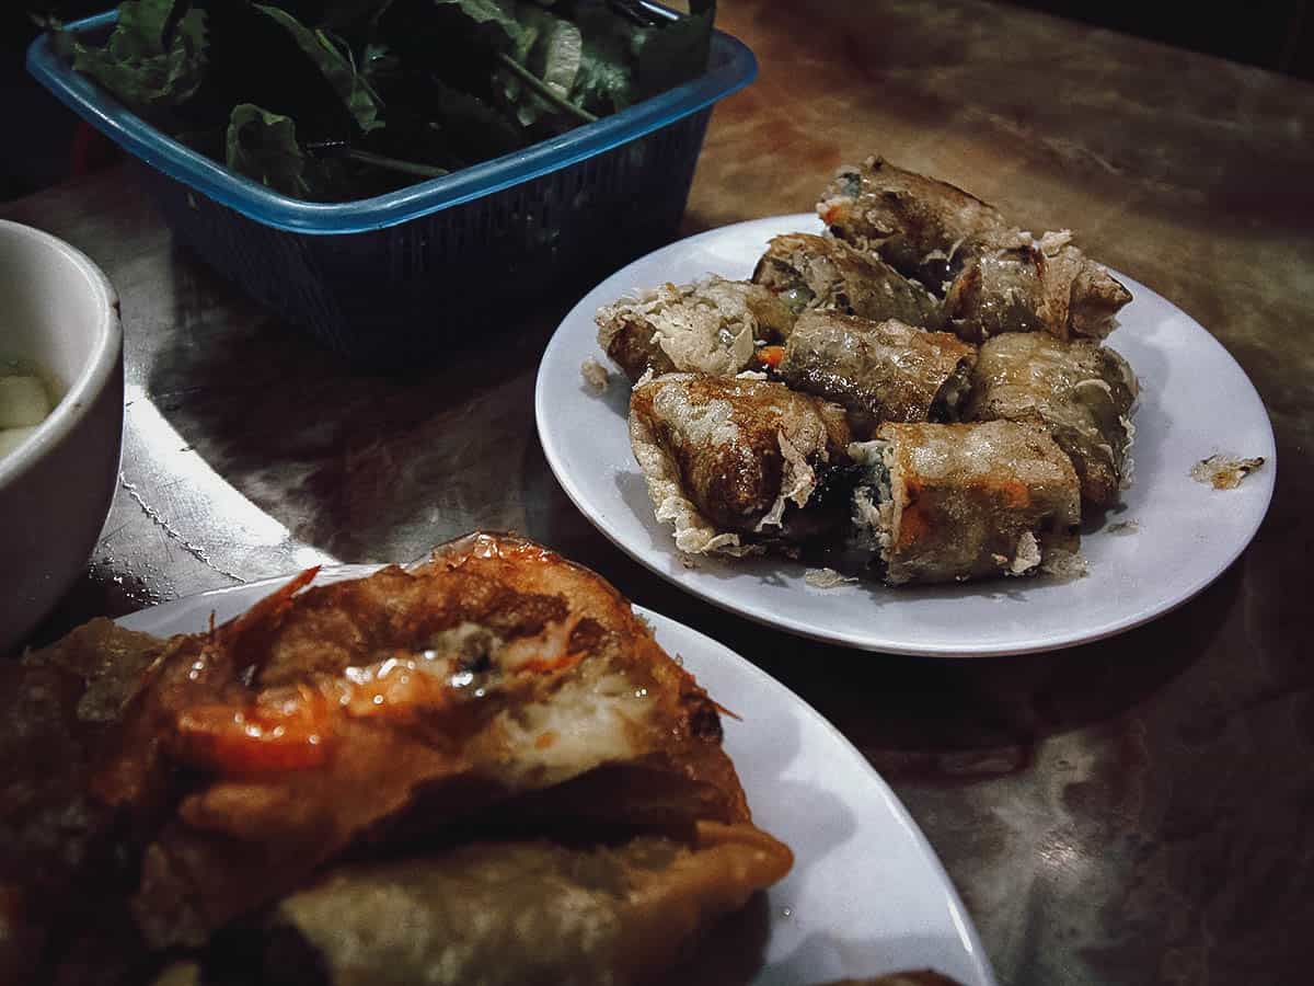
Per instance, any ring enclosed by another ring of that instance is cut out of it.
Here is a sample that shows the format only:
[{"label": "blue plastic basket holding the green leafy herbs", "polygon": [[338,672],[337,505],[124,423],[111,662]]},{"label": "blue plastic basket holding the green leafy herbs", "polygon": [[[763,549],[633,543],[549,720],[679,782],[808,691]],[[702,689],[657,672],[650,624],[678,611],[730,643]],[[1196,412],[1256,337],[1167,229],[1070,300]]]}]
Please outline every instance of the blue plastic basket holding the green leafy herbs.
[{"label": "blue plastic basket holding the green leafy herbs", "polygon": [[[68,29],[102,33],[114,18]],[[173,141],[75,72],[47,37],[28,49],[28,71],[146,166],[177,239],[339,354],[396,365],[495,331],[514,305],[669,241],[712,104],[748,85],[757,62],[716,32],[708,71],[691,83],[523,151],[334,204],[280,195]]]}]

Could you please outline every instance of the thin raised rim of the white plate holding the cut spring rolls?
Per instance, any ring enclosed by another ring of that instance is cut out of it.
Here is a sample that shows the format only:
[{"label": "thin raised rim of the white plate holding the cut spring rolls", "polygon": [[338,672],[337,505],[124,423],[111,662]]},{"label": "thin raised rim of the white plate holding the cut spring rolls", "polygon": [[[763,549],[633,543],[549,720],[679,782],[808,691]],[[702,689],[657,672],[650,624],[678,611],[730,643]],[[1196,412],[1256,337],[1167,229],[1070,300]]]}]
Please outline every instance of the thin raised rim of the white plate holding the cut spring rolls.
[{"label": "thin raised rim of the white plate holding the cut spring rolls", "polygon": [[[791,617],[782,617],[778,614],[773,614],[770,611],[745,607],[744,605],[723,598],[715,590],[707,589],[696,582],[690,582],[682,578],[679,572],[673,572],[669,571],[668,568],[664,568],[660,564],[660,560],[662,559],[650,559],[648,557],[646,552],[631,548],[616,534],[614,534],[611,530],[608,530],[606,526],[600,523],[600,521],[595,517],[597,511],[585,509],[585,504],[590,501],[583,496],[579,486],[564,468],[553,433],[547,427],[545,423],[549,419],[549,415],[547,413],[548,409],[545,406],[547,398],[544,393],[548,379],[548,372],[547,372],[549,362],[548,358],[556,347],[566,344],[564,342],[564,338],[566,335],[568,323],[573,322],[576,317],[581,312],[583,312],[585,304],[587,302],[589,297],[604,283],[620,277],[627,271],[637,267],[639,264],[652,260],[652,258],[657,256],[658,254],[665,254],[668,251],[674,251],[677,248],[691,247],[706,239],[712,239],[720,235],[725,235],[731,230],[737,230],[758,223],[769,225],[769,223],[783,223],[783,222],[798,222],[804,227],[807,227],[808,225],[816,226],[819,220],[813,213],[782,213],[779,216],[763,216],[753,220],[742,220],[740,222],[732,222],[724,226],[716,226],[715,229],[704,230],[691,237],[677,239],[671,243],[668,243],[662,247],[658,247],[657,250],[645,254],[644,256],[632,260],[631,263],[625,264],[618,271],[614,271],[612,273],[607,275],[597,284],[594,284],[579,298],[579,301],[576,302],[570,308],[570,310],[562,317],[561,322],[552,333],[552,338],[548,340],[548,344],[543,350],[543,356],[539,360],[539,368],[537,372],[535,373],[535,381],[533,381],[533,417],[535,417],[535,430],[537,431],[539,435],[539,444],[541,446],[544,458],[548,461],[548,468],[552,469],[552,475],[557,480],[557,485],[561,486],[561,489],[565,492],[566,497],[570,500],[574,507],[581,514],[583,514],[585,519],[587,519],[590,525],[593,525],[614,546],[620,548],[620,551],[623,551],[628,557],[644,565],[644,568],[656,573],[657,576],[666,580],[671,585],[677,586],[682,592],[686,592],[690,596],[703,599],[704,602],[710,602],[714,606],[727,613],[758,623],[759,626],[766,626],[775,630],[784,630],[787,632],[795,634],[798,636],[809,640],[816,640],[819,643],[837,644],[841,647],[848,647],[857,651],[866,651],[870,653],[896,653],[912,657],[943,657],[943,659],[971,660],[975,657],[1000,657],[1009,655],[1046,653],[1051,651],[1063,651],[1074,647],[1080,647],[1083,644],[1096,643],[1099,640],[1108,640],[1109,638],[1142,627],[1146,623],[1159,619],[1160,617],[1164,617],[1172,613],[1173,610],[1179,609],[1180,606],[1184,606],[1185,603],[1190,602],[1190,599],[1197,597],[1200,593],[1202,593],[1205,589],[1213,585],[1218,578],[1226,575],[1226,572],[1236,563],[1236,559],[1239,559],[1242,553],[1244,553],[1246,548],[1250,547],[1250,543],[1255,539],[1255,535],[1259,532],[1259,528],[1263,526],[1264,519],[1268,515],[1268,510],[1271,509],[1273,501],[1273,492],[1277,484],[1277,442],[1273,434],[1272,418],[1268,414],[1268,408],[1264,405],[1263,397],[1259,394],[1259,389],[1255,387],[1255,383],[1250,379],[1250,375],[1240,365],[1240,363],[1236,362],[1236,358],[1231,355],[1227,347],[1223,346],[1214,337],[1213,333],[1205,329],[1205,326],[1201,325],[1194,317],[1192,317],[1185,309],[1180,308],[1179,305],[1176,305],[1159,292],[1154,291],[1148,285],[1143,284],[1142,281],[1138,281],[1134,277],[1123,275],[1120,271],[1116,271],[1114,268],[1109,267],[1106,270],[1113,276],[1118,277],[1125,283],[1129,283],[1131,288],[1141,289],[1146,292],[1146,294],[1163,301],[1172,310],[1180,313],[1190,323],[1193,329],[1198,330],[1198,333],[1202,337],[1205,337],[1204,344],[1210,344],[1215,347],[1218,354],[1223,359],[1231,363],[1233,368],[1236,371],[1240,379],[1246,381],[1246,385],[1250,388],[1250,392],[1254,396],[1255,401],[1257,402],[1259,408],[1264,411],[1263,414],[1265,426],[1264,434],[1268,442],[1268,447],[1267,451],[1261,450],[1265,464],[1264,476],[1261,479],[1264,479],[1264,481],[1267,482],[1263,509],[1257,511],[1256,519],[1251,526],[1251,528],[1246,532],[1246,536],[1238,539],[1238,543],[1230,551],[1226,563],[1218,565],[1217,571],[1213,571],[1210,575],[1202,578],[1197,577],[1192,580],[1190,584],[1185,586],[1181,592],[1179,592],[1175,598],[1162,601],[1159,605],[1154,607],[1137,613],[1130,619],[1121,619],[1121,621],[1110,619],[1099,627],[1087,628],[1085,631],[1075,634],[1056,635],[1054,638],[1045,640],[1031,639],[1029,642],[1016,643],[1016,644],[1008,642],[997,642],[971,648],[955,646],[953,643],[917,644],[916,642],[890,640],[890,639],[876,638],[872,635],[859,635],[845,631],[828,632],[825,630],[817,628],[815,624],[800,623],[799,621]],[[715,272],[708,271],[707,273],[710,275]],[[591,323],[593,314],[587,312],[585,314],[587,316],[586,321]],[[600,352],[600,350],[598,351],[598,354],[604,355]],[[608,372],[616,375],[616,371],[611,367],[608,367]],[[665,525],[662,526],[665,527]]]}]

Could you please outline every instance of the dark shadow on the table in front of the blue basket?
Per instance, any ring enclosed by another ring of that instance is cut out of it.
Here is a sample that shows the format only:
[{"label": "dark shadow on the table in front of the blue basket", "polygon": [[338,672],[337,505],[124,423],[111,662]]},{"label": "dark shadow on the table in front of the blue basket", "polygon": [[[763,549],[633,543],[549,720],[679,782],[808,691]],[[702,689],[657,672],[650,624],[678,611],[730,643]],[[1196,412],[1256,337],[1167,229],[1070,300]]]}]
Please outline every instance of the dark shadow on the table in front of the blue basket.
[{"label": "dark shadow on the table in front of the blue basket", "polygon": [[519,319],[493,305],[487,331],[384,375],[269,318],[185,252],[176,260],[176,325],[139,327],[129,379],[145,380],[189,447],[294,539],[365,561],[516,526],[507,489],[536,444],[533,371],[573,298]]}]

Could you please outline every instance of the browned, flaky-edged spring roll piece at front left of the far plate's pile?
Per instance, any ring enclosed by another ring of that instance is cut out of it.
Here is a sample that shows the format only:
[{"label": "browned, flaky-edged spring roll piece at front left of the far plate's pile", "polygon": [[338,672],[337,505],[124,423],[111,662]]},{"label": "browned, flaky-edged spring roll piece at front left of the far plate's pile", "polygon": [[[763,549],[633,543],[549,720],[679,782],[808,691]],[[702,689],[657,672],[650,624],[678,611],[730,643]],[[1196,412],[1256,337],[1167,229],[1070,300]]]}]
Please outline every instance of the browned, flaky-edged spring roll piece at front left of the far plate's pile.
[{"label": "browned, flaky-edged spring roll piece at front left of the far plate's pile", "polygon": [[686,373],[636,387],[629,440],[687,553],[744,555],[844,522],[844,409],[783,384]]}]

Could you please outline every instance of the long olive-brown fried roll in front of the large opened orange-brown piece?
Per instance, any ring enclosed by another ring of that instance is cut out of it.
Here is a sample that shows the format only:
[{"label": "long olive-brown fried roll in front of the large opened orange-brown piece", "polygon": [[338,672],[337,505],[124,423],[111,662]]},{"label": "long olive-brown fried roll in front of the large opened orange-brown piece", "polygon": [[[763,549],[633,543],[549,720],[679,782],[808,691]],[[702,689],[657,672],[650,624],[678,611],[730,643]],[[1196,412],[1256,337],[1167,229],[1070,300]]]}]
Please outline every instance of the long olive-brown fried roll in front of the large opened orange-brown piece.
[{"label": "long olive-brown fried roll in front of the large opened orange-brown piece", "polygon": [[279,904],[263,982],[652,982],[790,864],[750,824],[700,824],[689,841],[476,843],[346,866]]}]

